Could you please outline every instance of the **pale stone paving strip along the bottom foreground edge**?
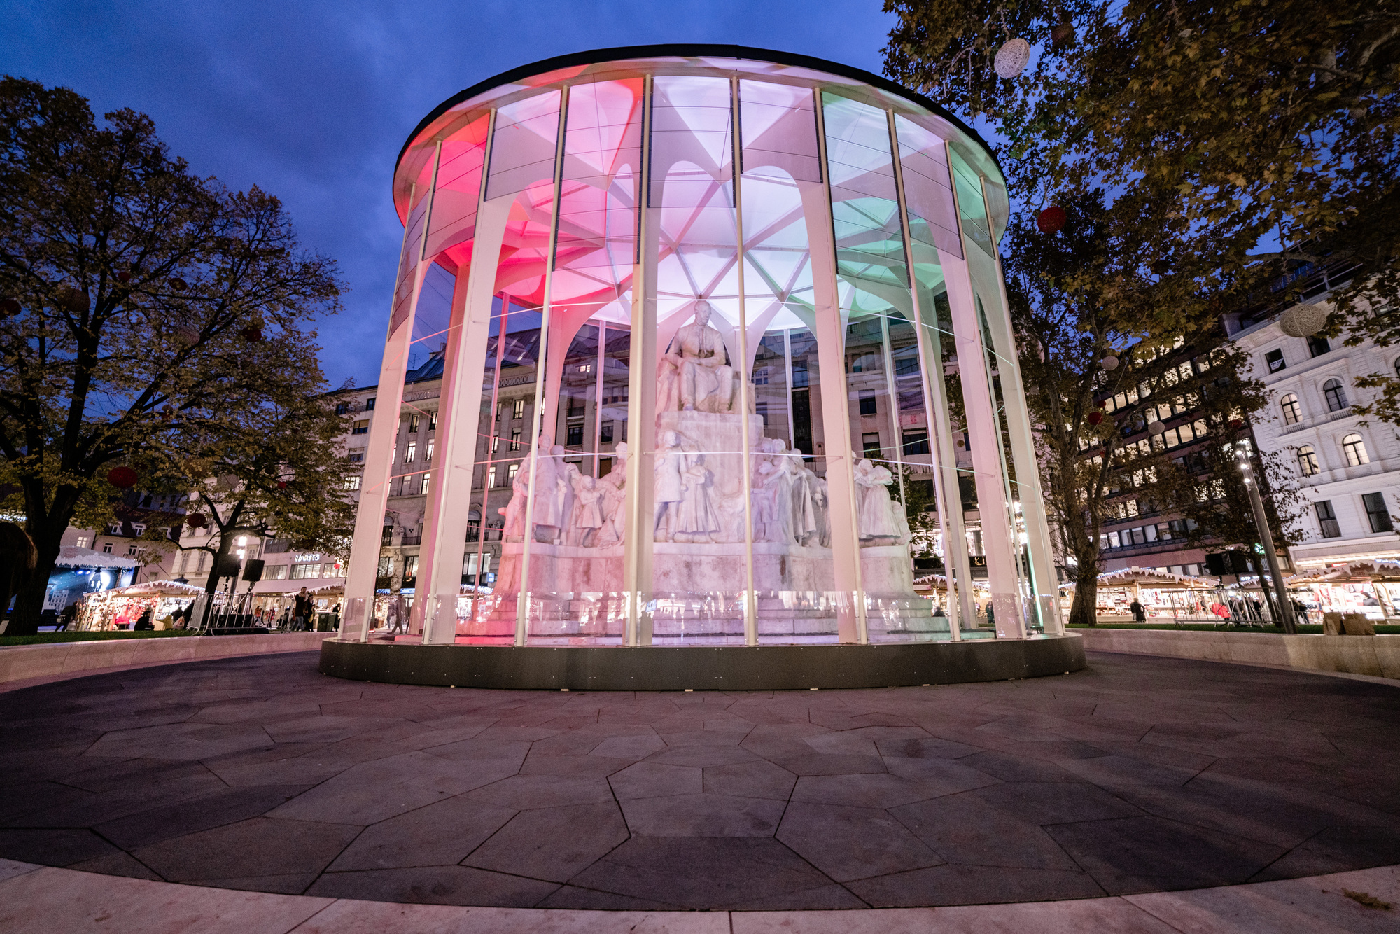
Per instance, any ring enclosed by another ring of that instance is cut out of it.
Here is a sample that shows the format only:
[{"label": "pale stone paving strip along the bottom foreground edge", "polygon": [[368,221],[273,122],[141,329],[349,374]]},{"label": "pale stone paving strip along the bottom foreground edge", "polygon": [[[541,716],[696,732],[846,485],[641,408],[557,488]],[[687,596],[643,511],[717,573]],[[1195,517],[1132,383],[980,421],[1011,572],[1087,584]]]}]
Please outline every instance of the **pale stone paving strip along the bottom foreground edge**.
[{"label": "pale stone paving strip along the bottom foreground edge", "polygon": [[[1369,896],[1390,909],[1348,896]],[[148,882],[0,860],[0,931],[50,934],[927,934],[1389,931],[1400,865],[1067,902],[833,912],[566,912],[399,905]]]}]

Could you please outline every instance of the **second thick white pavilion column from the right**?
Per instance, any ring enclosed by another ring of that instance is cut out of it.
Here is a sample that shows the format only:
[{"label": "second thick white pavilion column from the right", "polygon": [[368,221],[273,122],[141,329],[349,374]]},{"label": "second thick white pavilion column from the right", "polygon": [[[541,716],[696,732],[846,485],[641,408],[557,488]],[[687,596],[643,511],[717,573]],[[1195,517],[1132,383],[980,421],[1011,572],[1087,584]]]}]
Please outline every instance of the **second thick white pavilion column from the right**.
[{"label": "second thick white pavilion column from the right", "polygon": [[[962,206],[958,204],[958,182],[952,175],[952,151],[948,153],[949,176],[953,182],[956,221],[963,242],[963,255],[981,249],[962,234]],[[966,259],[939,256],[944,280],[948,283],[948,304],[953,318],[953,346],[958,349],[958,378],[963,389],[963,410],[967,417],[967,441],[972,449],[973,480],[977,485],[977,514],[981,518],[981,542],[987,553],[987,583],[995,609],[997,639],[1025,639],[1026,625],[1016,581],[1015,528],[1009,522],[1009,503],[1002,478],[1001,420],[993,402],[991,378],[987,372],[981,325],[977,321],[977,294],[972,286],[972,272]]]}]

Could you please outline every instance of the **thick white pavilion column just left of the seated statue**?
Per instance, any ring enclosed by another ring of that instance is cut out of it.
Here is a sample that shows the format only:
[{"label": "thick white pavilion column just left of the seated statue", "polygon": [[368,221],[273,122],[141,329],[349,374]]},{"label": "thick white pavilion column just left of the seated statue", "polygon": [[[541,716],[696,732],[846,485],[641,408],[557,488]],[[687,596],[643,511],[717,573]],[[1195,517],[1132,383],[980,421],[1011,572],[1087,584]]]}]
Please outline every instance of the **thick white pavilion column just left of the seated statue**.
[{"label": "thick white pavilion column just left of the seated statue", "polygon": [[[652,78],[641,85],[641,183],[637,197],[637,265],[631,272],[631,335],[627,351],[627,483],[623,508],[623,644],[648,633],[651,549],[655,538],[652,489],[657,468],[657,262],[661,207],[651,206]],[[647,639],[647,643],[651,640]]]}]

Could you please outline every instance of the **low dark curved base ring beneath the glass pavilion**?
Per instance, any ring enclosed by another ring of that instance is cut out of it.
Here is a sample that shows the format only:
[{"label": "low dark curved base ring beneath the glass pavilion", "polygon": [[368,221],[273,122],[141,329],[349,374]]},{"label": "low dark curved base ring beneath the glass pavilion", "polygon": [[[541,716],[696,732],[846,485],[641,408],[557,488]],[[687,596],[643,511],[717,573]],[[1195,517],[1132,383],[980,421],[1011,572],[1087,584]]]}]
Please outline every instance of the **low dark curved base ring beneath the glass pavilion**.
[{"label": "low dark curved base ring beneath the glass pavilion", "polygon": [[1064,675],[1078,636],[878,646],[412,646],[326,640],[321,671],[398,685],[538,690],[804,690]]}]

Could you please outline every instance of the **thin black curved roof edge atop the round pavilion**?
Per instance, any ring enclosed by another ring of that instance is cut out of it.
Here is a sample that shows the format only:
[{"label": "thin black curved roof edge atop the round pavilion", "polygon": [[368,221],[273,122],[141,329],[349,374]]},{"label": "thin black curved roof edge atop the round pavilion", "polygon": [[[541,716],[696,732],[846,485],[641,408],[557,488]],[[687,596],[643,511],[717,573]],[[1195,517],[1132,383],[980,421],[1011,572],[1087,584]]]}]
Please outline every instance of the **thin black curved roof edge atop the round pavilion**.
[{"label": "thin black curved roof edge atop the round pavilion", "polygon": [[448,99],[433,108],[433,112],[426,118],[419,120],[419,125],[413,127],[409,133],[409,139],[403,141],[403,147],[399,150],[398,158],[393,160],[393,174],[399,174],[399,162],[403,161],[403,154],[409,151],[409,146],[417,139],[419,133],[426,130],[433,120],[438,119],[449,109],[468,101],[483,91],[490,91],[501,84],[510,84],[511,81],[518,81],[519,78],[528,78],[533,74],[540,74],[545,71],[554,71],[557,69],[568,69],[580,64],[594,64],[596,62],[615,62],[622,59],[650,59],[661,56],[673,57],[718,57],[718,59],[752,59],[756,62],[773,62],[776,64],[791,64],[802,69],[812,69],[813,71],[827,71],[830,74],[839,74],[841,77],[854,78],[864,84],[869,84],[882,91],[889,91],[890,94],[897,94],[921,108],[932,111],[938,116],[946,119],[949,123],[956,126],[959,130],[970,136],[973,140],[981,144],[991,157],[991,161],[997,165],[997,169],[1002,175],[1007,174],[1001,168],[1001,161],[997,160],[997,153],[987,144],[987,140],[981,139],[977,130],[972,129],[962,122],[952,111],[941,104],[935,104],[930,98],[918,94],[917,91],[910,91],[903,84],[897,84],[883,76],[867,71],[864,69],[857,69],[848,64],[841,64],[839,62],[829,62],[826,59],[818,59],[811,55],[801,55],[798,52],[778,52],[776,49],[757,49],[748,45],[722,45],[713,42],[664,42],[657,45],[623,45],[612,49],[589,49],[587,52],[571,52],[568,55],[557,55],[552,59],[542,59],[539,62],[531,62],[529,64],[522,64],[514,67],[508,71],[501,71],[500,74],[486,78],[484,81],[477,81],[469,88],[458,91]]}]

